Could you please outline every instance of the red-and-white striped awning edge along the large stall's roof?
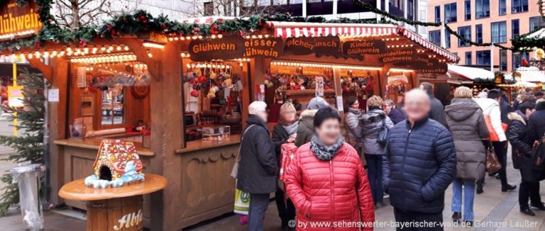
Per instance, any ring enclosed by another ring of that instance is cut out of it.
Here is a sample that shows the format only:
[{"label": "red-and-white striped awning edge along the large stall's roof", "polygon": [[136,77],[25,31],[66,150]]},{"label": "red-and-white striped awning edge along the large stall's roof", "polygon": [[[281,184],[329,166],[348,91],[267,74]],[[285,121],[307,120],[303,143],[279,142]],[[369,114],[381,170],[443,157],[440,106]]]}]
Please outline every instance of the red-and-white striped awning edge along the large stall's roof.
[{"label": "red-and-white striped awning edge along the large stall's roof", "polygon": [[360,24],[360,23],[293,23],[271,21],[275,28],[275,37],[292,38],[301,36],[344,35],[348,37],[366,37],[383,35],[404,35],[418,45],[445,57],[448,62],[458,62],[458,57],[451,52],[434,45],[416,33],[401,26],[390,24]]}]

